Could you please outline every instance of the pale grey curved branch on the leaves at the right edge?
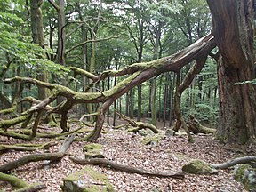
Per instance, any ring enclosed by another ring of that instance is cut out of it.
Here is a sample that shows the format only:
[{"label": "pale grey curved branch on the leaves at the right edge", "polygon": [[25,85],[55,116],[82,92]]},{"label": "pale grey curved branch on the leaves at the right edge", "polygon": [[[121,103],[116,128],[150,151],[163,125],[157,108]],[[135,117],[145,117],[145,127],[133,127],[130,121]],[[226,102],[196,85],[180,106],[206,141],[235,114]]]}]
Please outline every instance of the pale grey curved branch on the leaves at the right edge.
[{"label": "pale grey curved branch on the leaves at the right edge", "polygon": [[215,169],[227,169],[228,167],[236,164],[256,164],[256,156],[238,157],[224,162],[223,164],[211,164],[211,166]]}]

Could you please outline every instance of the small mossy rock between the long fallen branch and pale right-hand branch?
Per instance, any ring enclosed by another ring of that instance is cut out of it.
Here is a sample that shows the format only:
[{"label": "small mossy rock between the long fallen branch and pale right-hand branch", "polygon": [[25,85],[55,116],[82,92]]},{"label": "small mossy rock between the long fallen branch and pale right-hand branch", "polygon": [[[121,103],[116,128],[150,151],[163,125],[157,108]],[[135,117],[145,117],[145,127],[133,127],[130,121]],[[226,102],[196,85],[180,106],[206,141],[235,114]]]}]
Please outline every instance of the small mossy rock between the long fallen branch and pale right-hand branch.
[{"label": "small mossy rock between the long fallen branch and pale right-hand branch", "polygon": [[212,169],[210,164],[199,159],[192,160],[188,164],[185,164],[182,167],[182,171],[192,174],[212,174],[216,172]]}]

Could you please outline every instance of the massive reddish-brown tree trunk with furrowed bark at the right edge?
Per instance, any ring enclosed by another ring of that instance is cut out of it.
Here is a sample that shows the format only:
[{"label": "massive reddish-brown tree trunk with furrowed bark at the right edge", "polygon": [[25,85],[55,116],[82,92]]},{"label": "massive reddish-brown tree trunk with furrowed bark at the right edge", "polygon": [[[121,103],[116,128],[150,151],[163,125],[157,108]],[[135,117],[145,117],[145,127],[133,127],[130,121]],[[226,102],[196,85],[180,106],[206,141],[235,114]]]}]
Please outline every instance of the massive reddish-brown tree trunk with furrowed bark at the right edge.
[{"label": "massive reddish-brown tree trunk with furrowed bark at the right edge", "polygon": [[235,83],[255,78],[253,59],[253,0],[207,0],[213,36],[220,49],[218,66],[220,121],[217,134],[228,142],[255,140],[256,100],[252,84]]}]

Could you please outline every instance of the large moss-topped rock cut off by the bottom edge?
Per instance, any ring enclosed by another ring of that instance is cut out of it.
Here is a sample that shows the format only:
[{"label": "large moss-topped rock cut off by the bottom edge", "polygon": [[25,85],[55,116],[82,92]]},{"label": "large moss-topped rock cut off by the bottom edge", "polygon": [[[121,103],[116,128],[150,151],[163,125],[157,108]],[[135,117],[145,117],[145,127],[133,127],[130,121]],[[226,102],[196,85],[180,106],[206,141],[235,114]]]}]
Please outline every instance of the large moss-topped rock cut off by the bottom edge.
[{"label": "large moss-topped rock cut off by the bottom edge", "polygon": [[[98,185],[93,183],[98,183]],[[110,184],[106,175],[100,174],[87,166],[79,172],[68,175],[68,177],[63,180],[63,185],[61,188],[63,191],[67,192],[114,191],[114,188]]]}]

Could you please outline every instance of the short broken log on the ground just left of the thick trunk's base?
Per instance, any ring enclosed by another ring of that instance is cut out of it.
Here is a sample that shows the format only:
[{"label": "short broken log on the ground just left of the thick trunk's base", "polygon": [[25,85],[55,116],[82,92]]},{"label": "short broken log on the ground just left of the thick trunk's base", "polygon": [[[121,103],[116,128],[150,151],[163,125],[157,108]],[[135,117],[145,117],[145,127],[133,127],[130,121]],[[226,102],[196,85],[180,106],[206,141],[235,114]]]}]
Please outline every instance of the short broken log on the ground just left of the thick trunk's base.
[{"label": "short broken log on the ground just left of the thick trunk's base", "polygon": [[209,134],[209,133],[215,133],[216,130],[205,127],[202,124],[199,124],[199,122],[196,120],[196,118],[192,115],[189,115],[189,121],[187,122],[188,126],[188,131],[193,132],[194,134],[196,133],[204,133],[204,134]]}]

